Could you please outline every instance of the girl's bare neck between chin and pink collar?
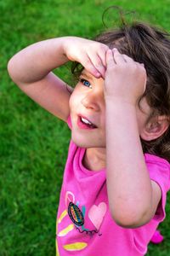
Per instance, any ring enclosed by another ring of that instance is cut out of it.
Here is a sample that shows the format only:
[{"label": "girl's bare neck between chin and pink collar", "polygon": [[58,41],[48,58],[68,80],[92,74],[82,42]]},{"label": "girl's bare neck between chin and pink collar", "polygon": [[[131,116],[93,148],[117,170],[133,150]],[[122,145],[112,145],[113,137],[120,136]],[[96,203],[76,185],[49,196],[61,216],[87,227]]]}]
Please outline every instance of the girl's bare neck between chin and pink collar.
[{"label": "girl's bare neck between chin and pink collar", "polygon": [[99,171],[105,168],[105,148],[87,148],[83,165],[91,171]]}]

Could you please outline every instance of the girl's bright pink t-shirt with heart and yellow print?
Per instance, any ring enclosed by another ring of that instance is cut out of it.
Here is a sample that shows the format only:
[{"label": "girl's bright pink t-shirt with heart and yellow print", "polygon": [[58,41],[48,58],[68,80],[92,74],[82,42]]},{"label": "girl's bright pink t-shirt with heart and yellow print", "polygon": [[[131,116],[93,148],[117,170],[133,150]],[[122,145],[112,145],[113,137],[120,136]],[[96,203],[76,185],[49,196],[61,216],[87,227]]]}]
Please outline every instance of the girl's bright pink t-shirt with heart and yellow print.
[{"label": "girl's bright pink t-shirt with heart and yellow print", "polygon": [[137,229],[124,229],[111,218],[105,169],[92,172],[85,168],[82,165],[85,150],[71,141],[59,199],[57,255],[144,255],[150,238],[165,218],[166,194],[170,188],[169,163],[155,155],[144,154],[150,179],[161,188],[161,203],[150,223]]}]

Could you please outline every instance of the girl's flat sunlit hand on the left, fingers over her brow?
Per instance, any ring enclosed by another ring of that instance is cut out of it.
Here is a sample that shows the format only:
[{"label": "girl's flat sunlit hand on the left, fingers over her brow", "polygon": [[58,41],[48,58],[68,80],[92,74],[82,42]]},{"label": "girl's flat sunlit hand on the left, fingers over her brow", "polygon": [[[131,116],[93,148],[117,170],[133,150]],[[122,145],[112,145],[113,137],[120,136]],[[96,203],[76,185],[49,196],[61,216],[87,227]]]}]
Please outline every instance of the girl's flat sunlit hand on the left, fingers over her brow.
[{"label": "girl's flat sunlit hand on the left, fingers over her brow", "polygon": [[96,78],[105,78],[107,45],[84,38],[67,37],[64,49],[70,61],[80,62]]}]

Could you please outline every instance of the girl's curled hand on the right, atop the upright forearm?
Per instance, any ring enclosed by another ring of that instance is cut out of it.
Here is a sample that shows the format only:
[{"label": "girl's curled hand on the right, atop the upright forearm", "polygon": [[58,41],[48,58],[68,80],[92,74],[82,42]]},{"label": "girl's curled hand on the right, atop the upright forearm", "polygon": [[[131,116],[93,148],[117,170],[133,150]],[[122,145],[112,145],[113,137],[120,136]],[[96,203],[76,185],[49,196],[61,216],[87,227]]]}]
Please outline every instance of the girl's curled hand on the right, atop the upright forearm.
[{"label": "girl's curled hand on the right, atop the upright forearm", "polygon": [[144,64],[122,55],[117,49],[106,53],[105,96],[135,105],[146,84]]}]

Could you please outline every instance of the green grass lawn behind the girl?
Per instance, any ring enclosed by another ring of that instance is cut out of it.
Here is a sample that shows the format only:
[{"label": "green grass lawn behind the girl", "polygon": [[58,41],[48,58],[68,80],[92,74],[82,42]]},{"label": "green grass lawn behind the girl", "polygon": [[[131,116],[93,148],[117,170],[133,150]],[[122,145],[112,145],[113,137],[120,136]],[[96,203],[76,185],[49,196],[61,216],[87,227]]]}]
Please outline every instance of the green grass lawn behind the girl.
[{"label": "green grass lawn behind the girl", "polygon": [[[28,44],[65,35],[92,38],[111,4],[135,10],[170,31],[170,1],[0,0],[0,255],[55,255],[55,216],[70,131],[8,78],[8,59]],[[116,22],[113,12],[108,17]],[[57,74],[70,83],[69,67]],[[168,203],[170,202],[168,197]],[[170,255],[170,207],[165,241],[147,255]],[[105,241],[105,245],[107,241]]]}]

